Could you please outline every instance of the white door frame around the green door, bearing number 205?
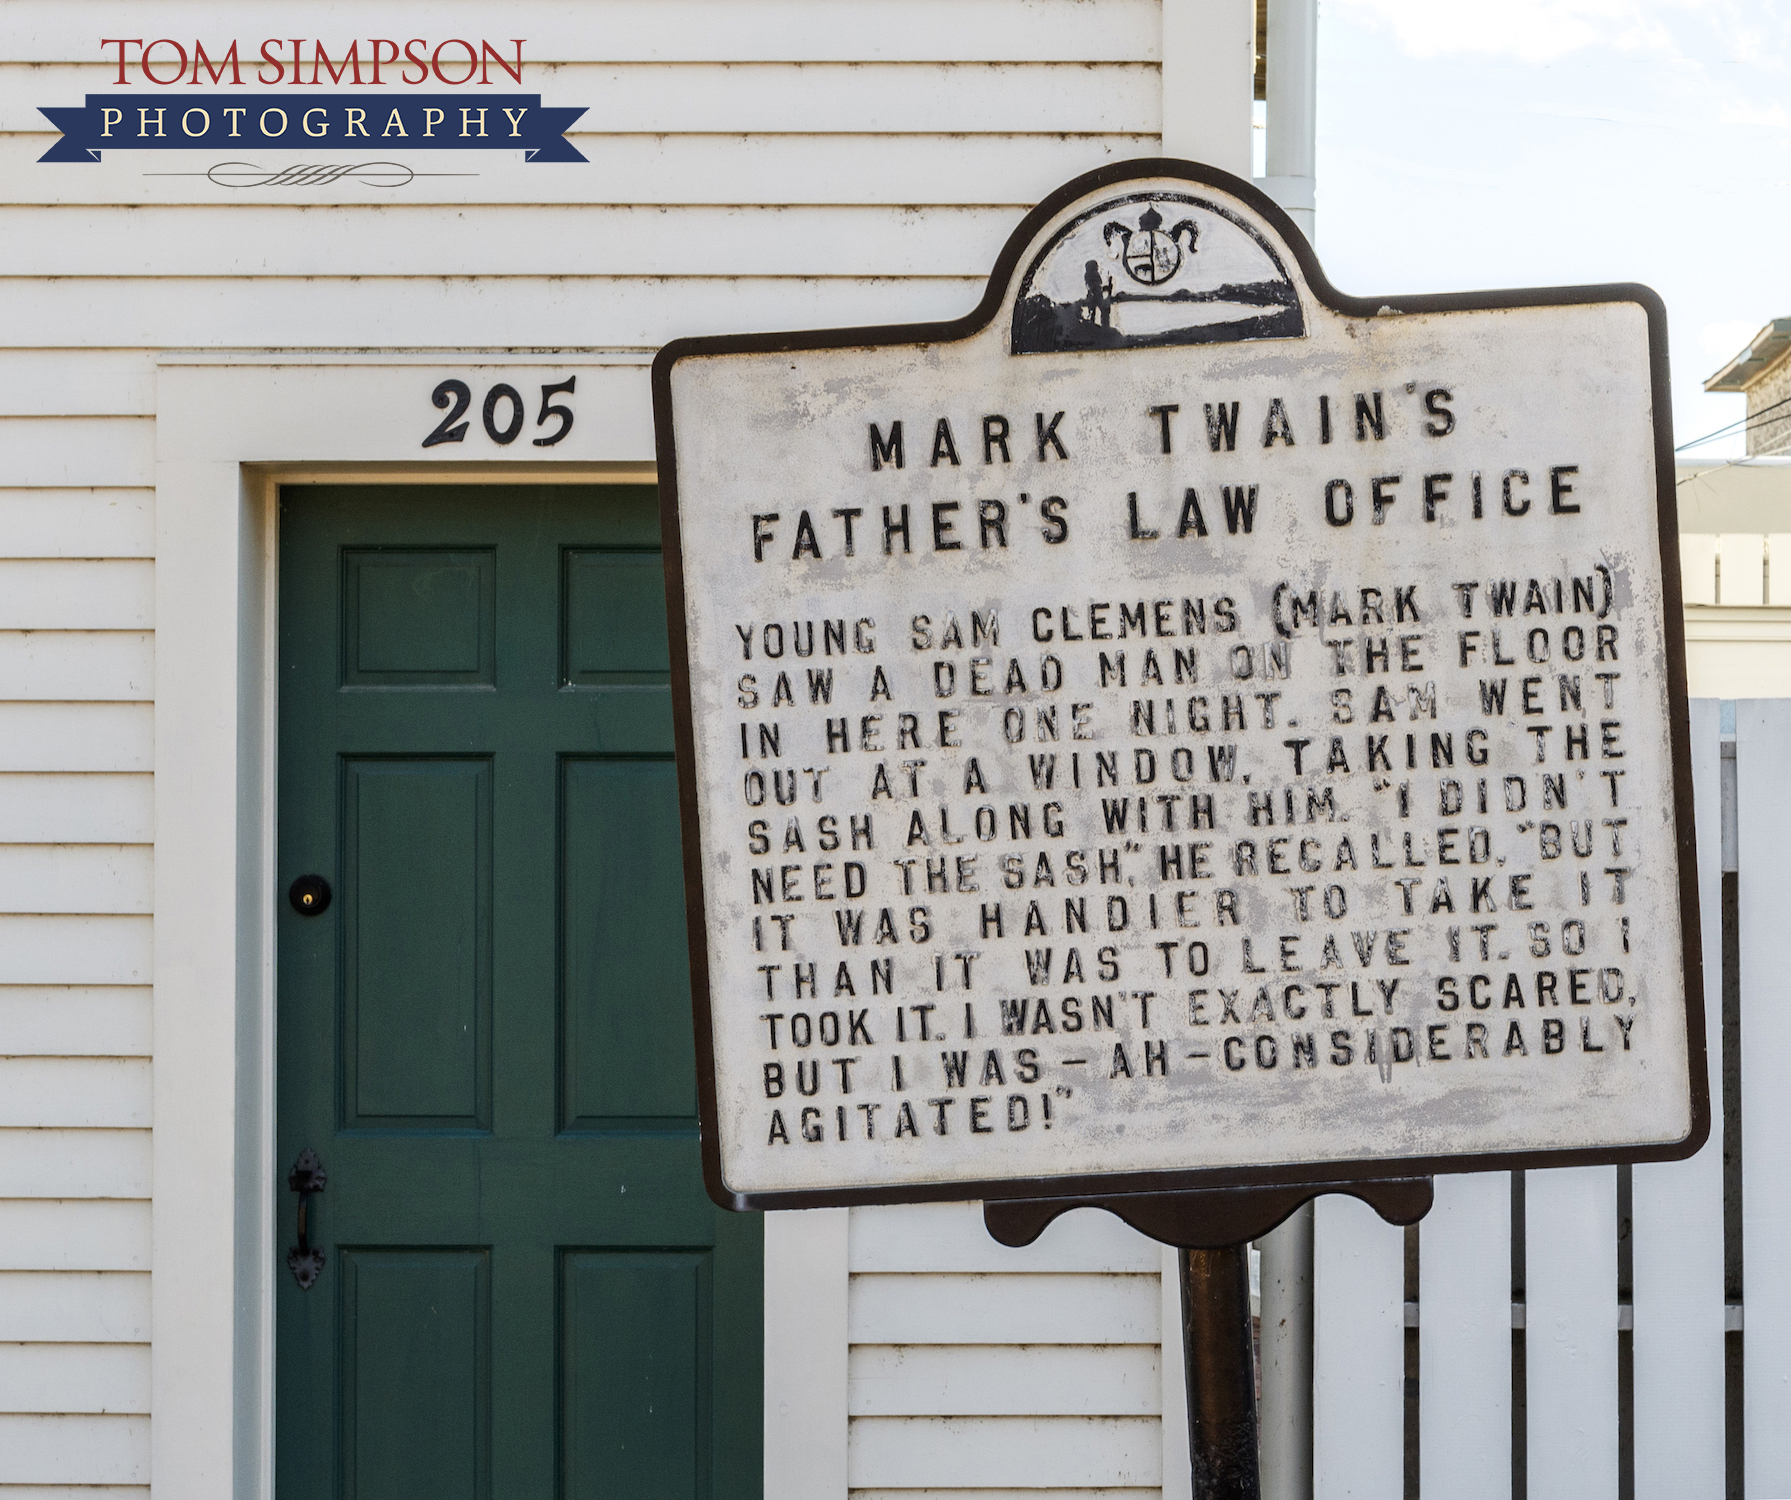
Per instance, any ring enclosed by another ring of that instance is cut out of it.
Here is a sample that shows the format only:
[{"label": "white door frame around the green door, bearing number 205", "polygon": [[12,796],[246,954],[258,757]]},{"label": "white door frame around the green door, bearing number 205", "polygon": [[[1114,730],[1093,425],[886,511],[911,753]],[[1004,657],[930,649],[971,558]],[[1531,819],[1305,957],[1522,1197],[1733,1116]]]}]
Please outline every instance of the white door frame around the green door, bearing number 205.
[{"label": "white door frame around the green door, bearing number 205", "polygon": [[[559,399],[573,428],[534,447],[555,428],[534,421],[541,385],[568,376],[578,388]],[[450,378],[473,390],[466,440],[424,449],[442,417],[430,396]],[[498,381],[528,403],[507,447],[482,422]],[[652,455],[645,356],[167,356],[158,367],[150,1480],[165,1500],[272,1496],[278,489],[650,483]],[[838,1239],[826,1266],[811,1262],[838,1283],[822,1323],[844,1323]],[[788,1291],[786,1314],[810,1316],[802,1289]],[[810,1278],[810,1307],[813,1291]],[[768,1412],[813,1378],[804,1355],[820,1368],[831,1355],[844,1375],[844,1326],[802,1339],[788,1316],[783,1355],[767,1362]],[[836,1445],[844,1473],[844,1389],[838,1407],[822,1446]],[[767,1493],[779,1493],[774,1479]]]}]

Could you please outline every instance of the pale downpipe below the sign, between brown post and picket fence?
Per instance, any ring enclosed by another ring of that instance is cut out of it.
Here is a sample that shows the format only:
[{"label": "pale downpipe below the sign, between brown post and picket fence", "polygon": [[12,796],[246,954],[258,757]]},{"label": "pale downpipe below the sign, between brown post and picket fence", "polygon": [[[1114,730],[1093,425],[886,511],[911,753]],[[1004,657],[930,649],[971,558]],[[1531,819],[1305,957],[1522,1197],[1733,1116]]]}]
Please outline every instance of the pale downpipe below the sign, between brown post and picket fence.
[{"label": "pale downpipe below the sign, between brown post and picket fence", "polygon": [[1263,1500],[1313,1496],[1313,1205],[1263,1251]]}]

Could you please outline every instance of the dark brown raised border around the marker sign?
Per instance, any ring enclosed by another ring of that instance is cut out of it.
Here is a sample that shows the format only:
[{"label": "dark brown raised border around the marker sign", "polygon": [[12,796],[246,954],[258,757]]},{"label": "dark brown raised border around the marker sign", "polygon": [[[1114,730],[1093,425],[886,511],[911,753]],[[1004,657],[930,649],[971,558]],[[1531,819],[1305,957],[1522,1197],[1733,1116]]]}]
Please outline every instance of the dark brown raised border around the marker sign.
[{"label": "dark brown raised border around the marker sign", "polygon": [[[690,639],[684,632],[684,539],[679,521],[677,442],[672,415],[672,367],[679,360],[707,354],[763,354],[793,349],[858,349],[890,344],[951,344],[987,328],[1007,297],[1021,254],[1041,229],[1064,208],[1100,188],[1146,177],[1177,179],[1218,188],[1247,202],[1288,243],[1313,295],[1349,317],[1392,313],[1492,311],[1497,308],[1583,306],[1587,303],[1635,303],[1648,313],[1648,363],[1653,390],[1655,487],[1660,532],[1660,575],[1666,600],[1667,721],[1673,748],[1673,820],[1678,845],[1680,936],[1685,961],[1685,1026],[1692,1122],[1682,1140],[1653,1146],[1605,1149],[1495,1151],[1472,1156],[1377,1156],[1358,1162],[1288,1162],[1275,1167],[1209,1167],[1150,1172],[1082,1172],[1060,1178],[996,1178],[987,1181],[940,1181],[892,1187],[799,1189],[784,1192],[734,1192],[722,1176],[718,1110],[715,1097],[715,1033],[709,1008],[707,918],[702,891],[702,839],[697,816],[693,754],[693,703],[690,696]],[[1678,573],[1678,501],[1673,467],[1673,406],[1667,381],[1666,304],[1648,286],[1610,283],[1601,286],[1537,286],[1504,292],[1451,292],[1420,297],[1350,297],[1327,279],[1306,236],[1293,220],[1255,186],[1193,161],[1141,158],[1085,172],[1064,183],[1028,213],[996,256],[981,303],[949,322],[910,322],[878,328],[826,328],[801,333],[736,333],[675,338],[654,358],[654,428],[659,453],[659,507],[664,533],[666,625],[672,641],[672,723],[677,739],[679,811],[684,839],[684,908],[690,929],[691,1010],[697,1029],[698,1124],[702,1131],[704,1185],[724,1208],[833,1208],[853,1203],[937,1203],[953,1199],[1023,1199],[1110,1196],[1128,1192],[1195,1192],[1229,1187],[1266,1187],[1302,1181],[1367,1181],[1413,1178],[1431,1172],[1528,1171],[1538,1167],[1587,1167],[1615,1162],[1676,1162],[1694,1155],[1710,1135],[1709,1058],[1703,1018],[1703,940],[1698,916],[1698,836],[1692,814],[1691,729],[1685,698],[1685,612]]]}]

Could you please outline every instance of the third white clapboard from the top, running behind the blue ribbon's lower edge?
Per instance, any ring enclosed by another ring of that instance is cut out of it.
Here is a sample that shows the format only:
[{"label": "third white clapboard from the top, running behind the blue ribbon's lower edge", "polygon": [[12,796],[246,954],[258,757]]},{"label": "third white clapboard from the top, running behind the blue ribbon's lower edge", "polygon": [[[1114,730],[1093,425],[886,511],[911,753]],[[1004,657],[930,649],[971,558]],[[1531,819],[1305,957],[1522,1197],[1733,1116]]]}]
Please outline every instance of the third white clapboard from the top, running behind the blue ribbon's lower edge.
[{"label": "third white clapboard from the top, running behind the blue ribbon's lower edge", "polygon": [[[54,140],[0,136],[0,202],[215,204],[219,193],[231,192],[210,183],[204,166],[195,166],[195,154],[184,150],[115,152],[79,174],[52,175],[38,158]],[[1078,172],[1152,156],[1159,147],[1155,132],[582,136],[578,150],[589,158],[584,166],[512,159],[494,170],[493,152],[433,150],[426,170],[457,175],[419,175],[401,192],[407,202],[439,204],[591,202],[593,197],[632,204],[987,204],[990,197],[1033,204]],[[319,195],[276,188],[258,200],[315,204]],[[356,200],[365,199],[356,195]],[[109,340],[120,342],[131,340],[124,333]]]}]

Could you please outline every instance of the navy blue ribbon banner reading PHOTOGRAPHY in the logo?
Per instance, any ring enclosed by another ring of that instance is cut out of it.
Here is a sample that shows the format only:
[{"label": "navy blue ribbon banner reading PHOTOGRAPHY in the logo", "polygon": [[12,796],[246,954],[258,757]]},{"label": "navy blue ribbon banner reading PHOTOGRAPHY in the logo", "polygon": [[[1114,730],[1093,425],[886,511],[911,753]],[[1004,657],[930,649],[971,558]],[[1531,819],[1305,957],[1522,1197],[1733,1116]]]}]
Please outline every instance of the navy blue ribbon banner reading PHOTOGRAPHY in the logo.
[{"label": "navy blue ribbon banner reading PHOTOGRAPHY in the logo", "polygon": [[584,106],[539,93],[242,93],[202,102],[90,93],[47,106],[63,132],[38,161],[99,161],[102,150],[521,150],[525,161],[584,161],[564,132]]}]

